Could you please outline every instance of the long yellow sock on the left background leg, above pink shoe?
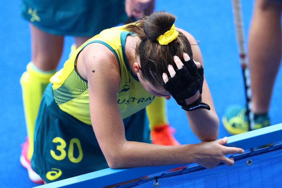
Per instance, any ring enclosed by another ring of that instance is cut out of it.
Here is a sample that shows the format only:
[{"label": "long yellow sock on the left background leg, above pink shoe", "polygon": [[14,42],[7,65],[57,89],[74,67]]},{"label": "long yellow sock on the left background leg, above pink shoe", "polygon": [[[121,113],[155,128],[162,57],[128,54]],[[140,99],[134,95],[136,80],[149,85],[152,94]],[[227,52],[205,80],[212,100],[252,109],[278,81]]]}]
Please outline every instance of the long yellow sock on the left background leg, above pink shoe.
[{"label": "long yellow sock on the left background leg, above pink shoe", "polygon": [[26,72],[23,73],[20,79],[24,113],[26,119],[26,129],[29,139],[29,147],[27,158],[30,160],[33,154],[33,134],[34,123],[37,117],[42,94],[49,83],[49,79],[56,73],[56,70],[43,71],[28,63]]}]

